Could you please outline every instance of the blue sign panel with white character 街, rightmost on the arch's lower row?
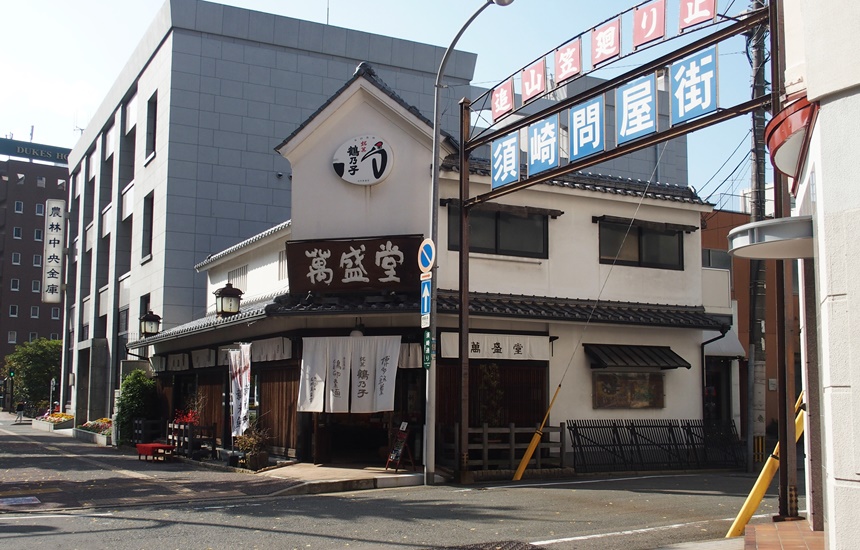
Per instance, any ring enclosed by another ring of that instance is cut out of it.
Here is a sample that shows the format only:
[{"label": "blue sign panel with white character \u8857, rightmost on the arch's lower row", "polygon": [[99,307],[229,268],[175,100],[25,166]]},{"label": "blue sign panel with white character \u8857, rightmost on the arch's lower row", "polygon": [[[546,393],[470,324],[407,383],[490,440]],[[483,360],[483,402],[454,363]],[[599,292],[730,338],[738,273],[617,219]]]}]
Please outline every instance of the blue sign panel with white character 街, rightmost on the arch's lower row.
[{"label": "blue sign panel with white character \u8857, rightmost on the arch's lower row", "polygon": [[673,63],[672,124],[717,110],[717,48],[712,46]]}]

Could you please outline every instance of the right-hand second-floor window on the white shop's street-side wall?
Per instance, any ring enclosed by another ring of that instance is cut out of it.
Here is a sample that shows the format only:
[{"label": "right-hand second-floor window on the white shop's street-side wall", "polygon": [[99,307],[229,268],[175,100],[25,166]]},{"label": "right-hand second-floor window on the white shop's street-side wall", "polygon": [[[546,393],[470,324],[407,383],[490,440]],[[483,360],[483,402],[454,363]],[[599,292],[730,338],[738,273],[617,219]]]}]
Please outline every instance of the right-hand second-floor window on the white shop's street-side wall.
[{"label": "right-hand second-floor window on the white shop's street-side wall", "polygon": [[684,233],[601,220],[600,263],[682,270]]}]

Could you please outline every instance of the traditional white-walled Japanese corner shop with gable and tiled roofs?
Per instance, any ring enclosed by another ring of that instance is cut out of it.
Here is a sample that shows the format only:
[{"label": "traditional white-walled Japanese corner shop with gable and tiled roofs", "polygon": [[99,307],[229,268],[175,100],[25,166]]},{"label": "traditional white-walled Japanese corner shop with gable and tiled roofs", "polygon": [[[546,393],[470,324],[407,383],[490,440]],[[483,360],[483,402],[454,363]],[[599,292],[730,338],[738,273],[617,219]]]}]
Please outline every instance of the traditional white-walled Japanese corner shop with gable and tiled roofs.
[{"label": "traditional white-walled Japanese corner shop with gable and tiled roofs", "polygon": [[[154,357],[165,413],[203,392],[205,422],[229,438],[226,349],[250,342],[252,409],[276,452],[378,461],[405,421],[421,455],[417,249],[430,223],[431,139],[429,121],[362,65],[277,147],[293,169],[292,219],[197,265],[207,316],[130,343]],[[438,427],[451,428],[459,174],[453,141],[442,149],[435,396]],[[488,189],[489,165],[472,168],[473,188]],[[703,342],[731,319],[730,305],[706,310],[703,298],[699,220],[710,209],[684,186],[577,174],[476,211],[471,423],[534,426],[559,384],[554,425],[701,419]],[[638,239],[613,265],[612,239],[627,225]],[[244,291],[241,309],[218,317],[214,293],[228,283]]]}]

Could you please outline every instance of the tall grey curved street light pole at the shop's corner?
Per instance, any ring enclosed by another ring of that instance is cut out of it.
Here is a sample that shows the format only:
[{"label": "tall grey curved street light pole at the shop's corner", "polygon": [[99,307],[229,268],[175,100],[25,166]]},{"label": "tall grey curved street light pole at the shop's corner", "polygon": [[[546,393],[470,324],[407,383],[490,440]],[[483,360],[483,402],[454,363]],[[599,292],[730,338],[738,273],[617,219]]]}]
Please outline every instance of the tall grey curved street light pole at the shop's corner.
[{"label": "tall grey curved street light pole at the shop's corner", "polygon": [[[430,238],[437,249],[441,249],[439,243],[439,141],[441,139],[441,118],[442,113],[439,109],[441,98],[439,92],[443,88],[442,77],[445,75],[445,66],[448,64],[448,58],[454,51],[454,46],[457,41],[463,36],[463,33],[472,24],[472,21],[487,9],[491,4],[498,6],[509,6],[514,0],[486,0],[478,10],[472,14],[466,23],[457,32],[454,40],[445,50],[445,55],[442,56],[442,62],[439,63],[439,71],[436,73],[436,85],[433,88],[433,158],[430,180]],[[468,177],[468,174],[466,175]],[[462,207],[462,205],[461,205]],[[460,251],[460,254],[468,254],[468,251]],[[430,271],[432,278],[430,279],[430,370],[427,375],[427,418],[424,429],[424,484],[432,485],[436,477],[436,296],[438,288],[438,278],[436,277],[436,264]],[[464,390],[468,391],[468,389]],[[468,426],[461,426],[460,429],[467,429]]]}]

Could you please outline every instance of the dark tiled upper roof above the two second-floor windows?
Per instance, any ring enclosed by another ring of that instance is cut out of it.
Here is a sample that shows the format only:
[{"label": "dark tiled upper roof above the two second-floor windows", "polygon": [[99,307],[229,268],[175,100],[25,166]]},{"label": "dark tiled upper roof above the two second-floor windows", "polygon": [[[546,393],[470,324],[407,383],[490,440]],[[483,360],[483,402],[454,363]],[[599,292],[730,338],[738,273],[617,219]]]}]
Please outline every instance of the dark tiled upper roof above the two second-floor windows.
[{"label": "dark tiled upper roof above the two second-floor windows", "polygon": [[[460,161],[457,155],[450,155],[446,158],[442,163],[442,168],[444,170],[459,172]],[[469,173],[480,176],[490,176],[490,161],[481,158],[469,159]],[[521,173],[526,173],[525,166],[522,167]],[[660,199],[689,204],[708,204],[703,201],[692,188],[685,187],[683,185],[662,182],[649,183],[639,179],[634,180],[632,178],[594,174],[592,172],[573,172],[560,178],[545,182],[542,185],[553,185],[556,187],[567,187],[569,189],[580,189],[612,195],[627,195],[631,197],[641,197],[644,195],[649,199]]]}]

